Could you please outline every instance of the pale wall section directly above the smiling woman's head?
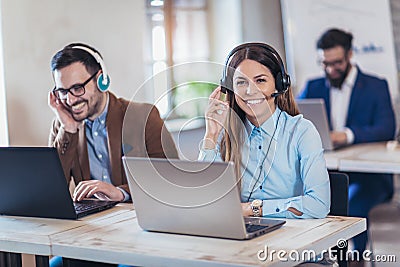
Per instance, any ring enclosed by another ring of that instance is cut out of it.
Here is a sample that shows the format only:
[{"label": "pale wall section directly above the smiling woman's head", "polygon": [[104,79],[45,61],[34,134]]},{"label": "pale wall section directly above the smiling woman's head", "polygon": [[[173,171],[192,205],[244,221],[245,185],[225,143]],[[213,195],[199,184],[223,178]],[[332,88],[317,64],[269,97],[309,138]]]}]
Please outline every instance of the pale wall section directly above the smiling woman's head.
[{"label": "pale wall section directly above the smiling woman's head", "polygon": [[211,59],[224,63],[242,42],[266,42],[285,61],[280,0],[209,0]]}]

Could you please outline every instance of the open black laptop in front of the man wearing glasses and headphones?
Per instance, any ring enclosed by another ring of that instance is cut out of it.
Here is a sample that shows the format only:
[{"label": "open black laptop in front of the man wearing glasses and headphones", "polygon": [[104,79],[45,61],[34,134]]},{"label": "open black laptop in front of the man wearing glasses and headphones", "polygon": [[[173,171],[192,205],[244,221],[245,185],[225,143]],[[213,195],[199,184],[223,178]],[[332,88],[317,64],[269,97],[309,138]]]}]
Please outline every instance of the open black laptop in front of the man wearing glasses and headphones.
[{"label": "open black laptop in front of the man wearing glasses and headphones", "polygon": [[52,147],[0,147],[0,214],[78,219],[118,202],[72,201],[58,157]]}]

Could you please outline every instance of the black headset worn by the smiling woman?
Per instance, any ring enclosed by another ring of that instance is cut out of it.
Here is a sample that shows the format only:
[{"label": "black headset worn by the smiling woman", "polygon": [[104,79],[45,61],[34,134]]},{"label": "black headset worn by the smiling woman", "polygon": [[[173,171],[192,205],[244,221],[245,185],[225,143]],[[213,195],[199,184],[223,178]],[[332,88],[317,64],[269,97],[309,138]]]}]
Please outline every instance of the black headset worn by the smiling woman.
[{"label": "black headset worn by the smiling woman", "polygon": [[225,66],[224,66],[224,72],[222,74],[222,78],[220,81],[221,85],[221,92],[226,94],[227,92],[232,92],[233,86],[232,86],[232,81],[228,81],[227,76],[228,76],[228,64],[230,59],[240,50],[248,48],[248,47],[254,47],[258,46],[261,48],[264,48],[268,54],[271,54],[277,61],[278,64],[281,68],[281,71],[278,72],[278,74],[275,77],[275,88],[277,90],[276,93],[271,94],[271,97],[277,97],[278,95],[284,94],[290,87],[290,76],[286,73],[285,71],[285,65],[283,64],[283,61],[281,57],[279,56],[278,52],[270,45],[266,43],[244,43],[241,45],[238,45],[235,47],[227,56],[226,61],[225,61]]}]

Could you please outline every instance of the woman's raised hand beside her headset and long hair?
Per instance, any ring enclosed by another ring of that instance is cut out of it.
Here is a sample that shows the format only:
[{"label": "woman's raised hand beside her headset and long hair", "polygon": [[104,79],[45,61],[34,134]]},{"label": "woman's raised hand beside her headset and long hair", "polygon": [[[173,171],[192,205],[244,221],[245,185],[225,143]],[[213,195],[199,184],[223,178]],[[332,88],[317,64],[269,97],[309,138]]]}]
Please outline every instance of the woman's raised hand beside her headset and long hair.
[{"label": "woman's raised hand beside her headset and long hair", "polygon": [[208,98],[206,110],[206,133],[204,136],[203,147],[214,149],[218,136],[225,125],[228,115],[229,104],[219,100],[221,97],[221,86],[218,86]]}]

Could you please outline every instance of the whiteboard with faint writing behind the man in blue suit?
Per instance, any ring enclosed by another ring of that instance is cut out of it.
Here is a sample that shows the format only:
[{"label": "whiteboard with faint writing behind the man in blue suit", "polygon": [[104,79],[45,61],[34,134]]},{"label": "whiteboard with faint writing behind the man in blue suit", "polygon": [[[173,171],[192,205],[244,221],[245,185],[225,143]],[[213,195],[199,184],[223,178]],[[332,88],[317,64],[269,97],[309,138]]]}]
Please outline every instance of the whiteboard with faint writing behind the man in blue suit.
[{"label": "whiteboard with faint writing behind the man in blue suit", "polygon": [[316,43],[331,27],[353,34],[353,62],[363,72],[386,78],[392,101],[398,76],[389,0],[281,0],[288,72],[295,93],[324,75]]}]

